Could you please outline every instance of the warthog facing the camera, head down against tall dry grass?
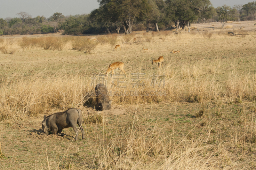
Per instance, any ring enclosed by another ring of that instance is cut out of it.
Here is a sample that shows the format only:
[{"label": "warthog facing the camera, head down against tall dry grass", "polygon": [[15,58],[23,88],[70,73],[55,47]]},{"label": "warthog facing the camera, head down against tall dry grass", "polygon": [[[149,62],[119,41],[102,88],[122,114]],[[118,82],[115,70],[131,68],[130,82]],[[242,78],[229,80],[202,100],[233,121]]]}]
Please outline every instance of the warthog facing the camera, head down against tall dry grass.
[{"label": "warthog facing the camera, head down against tall dry grass", "polygon": [[99,110],[109,110],[111,109],[111,100],[109,100],[107,86],[100,83],[95,87],[96,102],[98,104]]}]

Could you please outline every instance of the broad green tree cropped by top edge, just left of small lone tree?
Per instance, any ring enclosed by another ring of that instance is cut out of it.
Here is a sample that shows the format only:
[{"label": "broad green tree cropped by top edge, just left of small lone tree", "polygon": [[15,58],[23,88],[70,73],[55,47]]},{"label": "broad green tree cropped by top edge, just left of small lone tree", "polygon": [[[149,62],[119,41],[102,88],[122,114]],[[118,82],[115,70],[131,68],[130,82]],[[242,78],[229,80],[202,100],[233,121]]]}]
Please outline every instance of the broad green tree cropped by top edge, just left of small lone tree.
[{"label": "broad green tree cropped by top edge, just left of small lone tree", "polygon": [[210,0],[166,0],[166,15],[173,22],[180,22],[182,29],[190,21],[196,20],[203,12],[212,10]]}]

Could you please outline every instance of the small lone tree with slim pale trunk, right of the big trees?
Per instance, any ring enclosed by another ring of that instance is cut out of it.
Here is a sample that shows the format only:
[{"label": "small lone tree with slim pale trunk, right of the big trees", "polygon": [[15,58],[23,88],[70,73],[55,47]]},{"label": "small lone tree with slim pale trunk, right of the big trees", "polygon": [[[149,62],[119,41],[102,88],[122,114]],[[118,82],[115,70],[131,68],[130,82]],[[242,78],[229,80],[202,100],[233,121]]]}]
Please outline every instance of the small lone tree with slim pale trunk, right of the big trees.
[{"label": "small lone tree with slim pale trunk, right of the big trees", "polygon": [[218,6],[216,8],[216,12],[218,13],[218,17],[221,22],[221,28],[224,27],[224,25],[229,21],[234,19],[235,10],[230,8],[228,5],[222,5],[221,7]]}]

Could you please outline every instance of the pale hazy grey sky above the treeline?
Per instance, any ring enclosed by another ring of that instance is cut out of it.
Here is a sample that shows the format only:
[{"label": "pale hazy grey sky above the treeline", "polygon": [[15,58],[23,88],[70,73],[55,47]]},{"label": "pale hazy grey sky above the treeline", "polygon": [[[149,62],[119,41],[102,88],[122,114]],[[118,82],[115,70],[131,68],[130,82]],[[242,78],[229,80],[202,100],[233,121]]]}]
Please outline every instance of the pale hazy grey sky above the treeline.
[{"label": "pale hazy grey sky above the treeline", "polygon": [[[227,4],[247,4],[254,0],[211,0],[216,8]],[[63,15],[88,14],[98,8],[97,0],[0,0],[0,18],[19,17],[17,13],[28,12],[32,17],[38,15],[49,18],[53,13],[60,12]]]}]

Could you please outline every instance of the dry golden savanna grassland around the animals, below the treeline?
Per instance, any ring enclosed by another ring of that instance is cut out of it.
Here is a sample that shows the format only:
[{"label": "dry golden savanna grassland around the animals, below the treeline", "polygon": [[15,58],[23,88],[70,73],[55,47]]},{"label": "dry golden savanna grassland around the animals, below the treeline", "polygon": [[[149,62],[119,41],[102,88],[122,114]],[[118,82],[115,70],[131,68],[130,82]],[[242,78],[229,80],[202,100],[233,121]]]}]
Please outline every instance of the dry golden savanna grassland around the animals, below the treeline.
[{"label": "dry golden savanna grassland around the animals, below the treeline", "polygon": [[[0,168],[255,169],[256,26],[220,26],[195,24],[190,33],[0,37]],[[121,50],[113,51],[116,44]],[[157,69],[151,57],[161,55],[164,68]],[[117,80],[109,78],[109,91],[164,93],[112,93],[112,108],[125,114],[93,111],[102,76],[93,85],[91,74],[105,73],[116,61],[125,64],[120,85],[126,88],[111,86]],[[144,74],[139,83],[145,85],[132,88],[138,81],[132,73]],[[153,73],[165,75],[164,87],[160,79],[160,87],[152,86]],[[79,131],[74,141],[72,128],[64,136],[40,135],[44,115],[70,107],[83,111],[84,140]]]}]

